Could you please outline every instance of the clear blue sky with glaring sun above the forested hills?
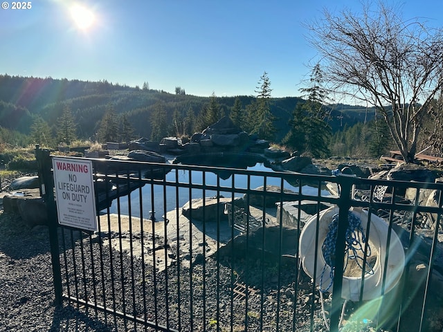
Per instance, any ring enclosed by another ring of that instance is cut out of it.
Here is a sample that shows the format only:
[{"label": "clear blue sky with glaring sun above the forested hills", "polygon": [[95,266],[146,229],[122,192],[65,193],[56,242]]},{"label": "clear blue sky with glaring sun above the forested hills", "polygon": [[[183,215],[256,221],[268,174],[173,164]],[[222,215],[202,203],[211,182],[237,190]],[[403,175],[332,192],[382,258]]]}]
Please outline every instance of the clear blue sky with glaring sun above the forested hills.
[{"label": "clear blue sky with glaring sun above the forested hills", "polygon": [[[2,74],[148,82],[151,89],[174,93],[181,86],[201,96],[255,95],[264,71],[273,97],[300,95],[316,62],[302,24],[320,19],[324,8],[361,9],[356,0],[34,0],[21,10],[6,3]],[[442,0],[394,3],[405,19],[443,26]],[[93,15],[89,27],[75,24],[75,4]]]}]

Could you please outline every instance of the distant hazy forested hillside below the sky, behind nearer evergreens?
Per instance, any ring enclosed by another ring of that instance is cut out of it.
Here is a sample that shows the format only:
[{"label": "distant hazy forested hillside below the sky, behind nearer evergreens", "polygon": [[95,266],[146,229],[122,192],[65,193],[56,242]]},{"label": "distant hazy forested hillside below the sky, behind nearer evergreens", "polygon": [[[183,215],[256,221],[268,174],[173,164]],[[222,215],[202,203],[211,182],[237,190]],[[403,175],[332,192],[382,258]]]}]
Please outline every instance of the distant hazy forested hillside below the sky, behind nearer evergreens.
[{"label": "distant hazy forested hillside below the sky, behind nearer evergreens", "polygon": [[[183,91],[180,91],[183,92]],[[242,109],[246,109],[255,97],[238,96]],[[275,141],[281,140],[288,131],[291,112],[300,98],[272,98],[271,113],[276,117]],[[229,115],[235,97],[217,97],[219,113]],[[134,127],[134,135],[150,138],[153,117],[161,108],[166,118],[184,119],[193,113],[195,121],[199,114],[210,104],[210,98],[167,93],[151,89],[139,89],[107,81],[83,82],[79,80],[54,80],[51,77],[19,77],[0,75],[0,126],[29,134],[37,116],[53,128],[62,116],[66,105],[72,111],[77,124],[78,137],[91,139],[98,132],[100,120],[111,107],[118,116],[124,115]],[[337,131],[345,124],[348,126],[361,120],[364,109],[350,109],[341,104],[332,110],[330,124]],[[192,134],[177,133],[177,125],[169,121],[164,135]],[[174,128],[176,127],[176,128]],[[203,130],[204,128],[192,128]]]}]

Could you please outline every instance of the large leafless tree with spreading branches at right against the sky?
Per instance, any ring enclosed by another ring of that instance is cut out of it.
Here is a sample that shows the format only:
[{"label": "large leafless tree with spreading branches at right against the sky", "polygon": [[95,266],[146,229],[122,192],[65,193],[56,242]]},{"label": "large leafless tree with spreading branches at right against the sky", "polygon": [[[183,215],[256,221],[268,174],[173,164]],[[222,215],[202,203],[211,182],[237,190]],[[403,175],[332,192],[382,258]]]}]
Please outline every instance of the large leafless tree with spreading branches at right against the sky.
[{"label": "large leafless tree with spreading branches at right against the sky", "polygon": [[377,10],[363,6],[361,14],[325,10],[324,19],[309,24],[309,41],[329,89],[376,107],[401,156],[412,162],[423,117],[443,86],[443,30],[397,12],[384,3]]}]

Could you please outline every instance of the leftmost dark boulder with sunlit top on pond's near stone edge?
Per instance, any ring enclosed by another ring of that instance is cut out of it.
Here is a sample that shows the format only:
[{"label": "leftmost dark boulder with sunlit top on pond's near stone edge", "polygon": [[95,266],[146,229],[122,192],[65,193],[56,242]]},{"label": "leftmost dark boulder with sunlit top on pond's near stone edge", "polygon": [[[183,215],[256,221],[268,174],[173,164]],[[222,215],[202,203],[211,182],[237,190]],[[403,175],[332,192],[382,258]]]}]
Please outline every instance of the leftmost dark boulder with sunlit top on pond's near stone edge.
[{"label": "leftmost dark boulder with sunlit top on pond's near stone edge", "polygon": [[196,219],[199,221],[217,221],[226,219],[224,214],[224,204],[230,202],[231,199],[224,197],[207,197],[204,199],[192,199],[192,201],[183,205],[181,214],[188,219]]}]

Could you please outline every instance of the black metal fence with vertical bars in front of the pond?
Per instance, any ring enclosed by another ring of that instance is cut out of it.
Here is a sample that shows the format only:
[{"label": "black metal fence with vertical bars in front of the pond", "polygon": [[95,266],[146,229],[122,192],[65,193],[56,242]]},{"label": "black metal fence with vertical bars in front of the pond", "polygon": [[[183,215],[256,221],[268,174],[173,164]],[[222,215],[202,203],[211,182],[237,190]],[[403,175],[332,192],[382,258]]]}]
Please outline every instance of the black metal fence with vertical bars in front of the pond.
[{"label": "black metal fence with vertical bars in front of the pond", "polygon": [[109,330],[442,330],[441,184],[93,160],[87,232],[36,152],[56,303]]}]

